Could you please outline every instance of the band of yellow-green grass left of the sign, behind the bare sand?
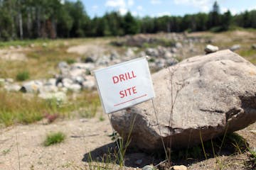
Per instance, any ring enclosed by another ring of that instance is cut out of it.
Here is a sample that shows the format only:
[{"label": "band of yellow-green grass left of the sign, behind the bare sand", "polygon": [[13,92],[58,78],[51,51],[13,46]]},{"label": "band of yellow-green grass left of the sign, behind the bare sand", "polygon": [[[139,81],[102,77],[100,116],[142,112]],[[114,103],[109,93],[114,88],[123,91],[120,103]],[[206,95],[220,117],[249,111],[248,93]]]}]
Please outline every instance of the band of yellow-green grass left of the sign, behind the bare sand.
[{"label": "band of yellow-green grass left of the sign, behind the bare sand", "polygon": [[43,100],[35,96],[26,96],[26,94],[11,93],[0,91],[0,124],[4,126],[14,123],[34,123],[41,120],[46,113],[70,117],[73,112],[79,110],[85,111],[83,117],[92,118],[100,106],[100,100],[97,94],[81,91],[77,98],[68,96],[67,103],[61,103],[57,100]]}]

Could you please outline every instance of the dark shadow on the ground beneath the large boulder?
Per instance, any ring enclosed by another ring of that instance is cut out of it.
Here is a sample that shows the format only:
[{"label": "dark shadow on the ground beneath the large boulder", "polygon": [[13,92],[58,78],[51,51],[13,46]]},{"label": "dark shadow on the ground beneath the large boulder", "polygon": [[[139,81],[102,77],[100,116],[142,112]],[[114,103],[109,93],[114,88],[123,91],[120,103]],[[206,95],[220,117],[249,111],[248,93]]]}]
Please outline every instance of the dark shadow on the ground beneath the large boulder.
[{"label": "dark shadow on the ground beneath the large boulder", "polygon": [[[183,164],[189,166],[197,162],[204,161],[209,158],[218,156],[231,156],[245,152],[247,150],[247,142],[244,138],[233,133],[227,135],[224,142],[223,137],[214,140],[203,142],[203,145],[197,145],[187,149],[180,149],[171,152],[172,164]],[[236,144],[236,145],[234,145]],[[221,149],[220,149],[221,145]],[[205,150],[204,150],[205,149]],[[124,165],[128,167],[142,168],[148,164],[159,164],[165,160],[164,151],[159,151],[154,154],[146,154],[138,149],[129,148],[125,154]],[[102,147],[92,150],[84,154],[82,162],[104,162],[111,164],[119,164],[117,158],[118,149],[115,142],[109,143]],[[165,169],[165,168],[160,168]]]}]

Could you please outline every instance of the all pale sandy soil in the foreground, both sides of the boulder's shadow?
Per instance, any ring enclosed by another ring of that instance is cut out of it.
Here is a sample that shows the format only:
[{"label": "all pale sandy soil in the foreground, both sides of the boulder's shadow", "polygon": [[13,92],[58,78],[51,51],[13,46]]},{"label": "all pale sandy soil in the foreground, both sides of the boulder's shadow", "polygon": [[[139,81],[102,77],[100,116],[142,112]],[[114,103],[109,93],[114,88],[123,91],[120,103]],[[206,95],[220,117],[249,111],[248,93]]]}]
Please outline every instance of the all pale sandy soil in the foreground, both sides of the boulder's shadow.
[{"label": "all pale sandy soil in the foreground, both sides of the boulder's shadow", "polygon": [[[245,137],[250,147],[256,147],[256,123],[244,130],[238,131]],[[46,134],[49,132],[64,132],[66,139],[63,143],[43,146]],[[112,129],[108,118],[100,121],[98,118],[57,120],[55,123],[45,124],[44,121],[31,125],[16,125],[0,130],[0,169],[88,169],[86,160],[91,152],[92,158],[108,154],[108,147],[114,147],[109,135]],[[16,145],[18,142],[18,152]],[[141,163],[137,164],[137,161]],[[247,153],[220,156],[217,158],[193,160],[188,162],[174,162],[186,164],[188,169],[246,169]],[[129,152],[126,157],[126,168],[134,169],[146,164],[156,164],[160,160],[151,155]],[[218,161],[219,163],[216,163]],[[114,166],[114,165],[113,165]]]}]

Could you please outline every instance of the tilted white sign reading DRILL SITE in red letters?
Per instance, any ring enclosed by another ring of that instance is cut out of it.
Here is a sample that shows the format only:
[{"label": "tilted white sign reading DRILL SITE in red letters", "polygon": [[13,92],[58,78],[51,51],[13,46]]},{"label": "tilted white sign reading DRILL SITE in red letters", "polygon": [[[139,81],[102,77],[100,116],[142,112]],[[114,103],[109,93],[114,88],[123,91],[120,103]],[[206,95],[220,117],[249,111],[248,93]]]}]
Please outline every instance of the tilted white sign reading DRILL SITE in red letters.
[{"label": "tilted white sign reading DRILL SITE in red letters", "polygon": [[113,113],[154,98],[145,57],[94,71],[105,113]]}]

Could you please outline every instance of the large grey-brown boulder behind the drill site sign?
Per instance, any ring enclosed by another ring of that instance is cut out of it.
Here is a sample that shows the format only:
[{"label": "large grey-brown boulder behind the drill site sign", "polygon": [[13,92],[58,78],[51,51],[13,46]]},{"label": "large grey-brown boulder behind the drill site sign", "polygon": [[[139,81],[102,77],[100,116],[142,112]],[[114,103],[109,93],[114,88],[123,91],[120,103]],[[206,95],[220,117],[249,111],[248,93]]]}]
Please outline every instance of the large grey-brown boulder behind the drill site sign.
[{"label": "large grey-brown boulder behind the drill site sign", "polygon": [[201,143],[201,137],[210,140],[256,120],[256,67],[230,50],[189,58],[156,72],[152,80],[153,102],[111,117],[124,139],[132,129],[132,146],[163,149],[163,137],[166,147],[170,141],[173,149],[191,147]]}]

